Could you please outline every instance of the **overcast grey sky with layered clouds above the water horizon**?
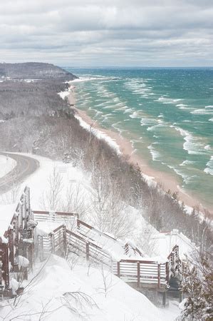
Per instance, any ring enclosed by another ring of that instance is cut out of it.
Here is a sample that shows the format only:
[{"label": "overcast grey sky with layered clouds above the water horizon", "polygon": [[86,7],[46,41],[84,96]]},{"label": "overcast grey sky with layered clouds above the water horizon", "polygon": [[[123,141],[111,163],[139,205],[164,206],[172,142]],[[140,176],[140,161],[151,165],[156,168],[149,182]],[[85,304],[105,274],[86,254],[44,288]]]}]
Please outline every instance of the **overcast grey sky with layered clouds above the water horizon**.
[{"label": "overcast grey sky with layered clouds above the water horizon", "polygon": [[0,0],[0,61],[213,66],[213,0]]}]

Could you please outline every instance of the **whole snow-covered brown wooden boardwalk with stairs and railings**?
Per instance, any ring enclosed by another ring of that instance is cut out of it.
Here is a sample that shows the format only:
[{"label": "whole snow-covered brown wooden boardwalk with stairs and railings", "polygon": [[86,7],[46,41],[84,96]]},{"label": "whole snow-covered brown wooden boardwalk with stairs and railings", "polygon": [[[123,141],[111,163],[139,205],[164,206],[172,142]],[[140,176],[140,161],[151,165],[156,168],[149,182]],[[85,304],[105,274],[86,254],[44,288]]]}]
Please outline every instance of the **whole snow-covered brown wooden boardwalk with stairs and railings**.
[{"label": "whole snow-covered brown wooden boardwalk with stairs and railings", "polygon": [[[115,248],[122,252],[119,260],[111,254]],[[20,274],[20,255],[28,259],[28,267],[21,267],[27,277],[36,256],[44,260],[51,253],[63,257],[75,253],[95,265],[106,265],[137,290],[165,292],[171,277],[180,274],[177,245],[165,262],[145,258],[133,245],[121,246],[120,241],[79,220],[77,213],[31,210],[30,190],[26,187],[9,229],[0,235],[0,298],[11,296],[10,275]]]}]

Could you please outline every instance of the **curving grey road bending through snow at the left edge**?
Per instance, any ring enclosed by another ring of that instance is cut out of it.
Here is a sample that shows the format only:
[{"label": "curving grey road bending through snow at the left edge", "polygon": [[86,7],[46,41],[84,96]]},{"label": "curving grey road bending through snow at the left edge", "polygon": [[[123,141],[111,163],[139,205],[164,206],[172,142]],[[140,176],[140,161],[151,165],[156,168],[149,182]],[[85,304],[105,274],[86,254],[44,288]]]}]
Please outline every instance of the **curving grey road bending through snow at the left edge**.
[{"label": "curving grey road bending through snow at the left edge", "polygon": [[14,169],[0,178],[0,194],[6,193],[14,185],[23,182],[39,167],[39,162],[28,156],[4,152],[0,152],[0,155],[9,156],[16,161]]}]

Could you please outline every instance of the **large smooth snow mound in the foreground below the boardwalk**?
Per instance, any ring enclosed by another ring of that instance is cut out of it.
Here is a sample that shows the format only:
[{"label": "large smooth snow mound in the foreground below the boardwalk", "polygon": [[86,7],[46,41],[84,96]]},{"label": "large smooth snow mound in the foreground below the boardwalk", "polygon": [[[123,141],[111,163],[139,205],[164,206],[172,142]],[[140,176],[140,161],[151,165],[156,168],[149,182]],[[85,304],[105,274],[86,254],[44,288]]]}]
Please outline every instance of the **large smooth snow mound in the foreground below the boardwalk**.
[{"label": "large smooth snow mound in the foreground below the boardwalk", "polygon": [[[41,265],[36,266],[34,275],[38,270],[41,270]],[[31,282],[32,277],[33,275],[30,275],[28,282]],[[83,302],[82,298],[81,302],[71,300],[69,292],[88,295],[92,305]],[[1,308],[1,317],[7,315],[8,320],[18,316],[21,320],[38,320],[45,305],[45,320],[51,321],[175,320],[169,318],[169,311],[167,317],[164,317],[165,309],[155,307],[144,295],[133,290],[108,270],[96,267],[90,267],[88,270],[85,262],[77,263],[71,270],[66,260],[56,255],[51,255],[41,272],[31,282],[30,288],[26,287],[17,307],[11,308],[6,304]]]}]

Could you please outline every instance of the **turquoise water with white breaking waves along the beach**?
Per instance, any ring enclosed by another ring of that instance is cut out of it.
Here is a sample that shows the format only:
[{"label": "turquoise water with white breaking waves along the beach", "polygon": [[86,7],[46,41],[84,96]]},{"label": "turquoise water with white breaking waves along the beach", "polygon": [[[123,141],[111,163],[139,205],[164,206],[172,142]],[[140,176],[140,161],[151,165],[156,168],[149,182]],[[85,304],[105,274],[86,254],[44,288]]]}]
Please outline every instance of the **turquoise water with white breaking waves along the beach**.
[{"label": "turquoise water with white breaking waves along the beach", "polygon": [[67,69],[85,78],[75,83],[77,108],[213,205],[213,68]]}]

